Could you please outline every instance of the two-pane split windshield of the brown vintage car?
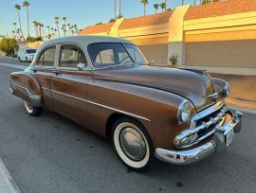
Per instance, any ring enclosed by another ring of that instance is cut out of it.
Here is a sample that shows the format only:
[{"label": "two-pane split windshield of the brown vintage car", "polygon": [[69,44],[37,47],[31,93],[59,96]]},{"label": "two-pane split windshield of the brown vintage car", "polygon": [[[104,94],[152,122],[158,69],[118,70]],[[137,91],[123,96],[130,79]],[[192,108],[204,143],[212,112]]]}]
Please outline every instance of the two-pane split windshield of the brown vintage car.
[{"label": "two-pane split windshield of the brown vintage car", "polygon": [[147,63],[147,60],[134,44],[90,44],[88,46],[88,53],[96,68]]}]

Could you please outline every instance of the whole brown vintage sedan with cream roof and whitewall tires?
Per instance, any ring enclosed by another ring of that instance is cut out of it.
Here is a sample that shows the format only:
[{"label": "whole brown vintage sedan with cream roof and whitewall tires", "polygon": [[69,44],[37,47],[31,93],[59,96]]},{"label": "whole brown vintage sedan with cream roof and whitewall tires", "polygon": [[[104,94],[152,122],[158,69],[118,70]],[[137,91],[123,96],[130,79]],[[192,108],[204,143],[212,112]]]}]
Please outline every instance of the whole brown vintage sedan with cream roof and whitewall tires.
[{"label": "whole brown vintage sedan with cream roof and whitewall tires", "polygon": [[43,44],[25,71],[10,75],[10,93],[28,114],[64,114],[109,139],[137,171],[155,158],[189,165],[229,146],[241,116],[225,104],[229,83],[200,69],[149,63],[135,44],[101,36]]}]

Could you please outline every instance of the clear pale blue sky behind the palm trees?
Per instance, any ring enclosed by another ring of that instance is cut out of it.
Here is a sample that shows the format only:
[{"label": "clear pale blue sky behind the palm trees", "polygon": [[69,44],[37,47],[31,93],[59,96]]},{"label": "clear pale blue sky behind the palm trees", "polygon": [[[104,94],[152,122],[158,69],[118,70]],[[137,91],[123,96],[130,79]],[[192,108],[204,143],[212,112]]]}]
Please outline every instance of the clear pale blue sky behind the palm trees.
[{"label": "clear pale blue sky behind the palm trees", "polygon": [[[114,17],[114,0],[28,0],[30,3],[29,19],[30,31],[35,34],[32,22],[37,21],[45,26],[54,26],[54,17],[67,17],[67,23],[77,24],[79,28],[96,23],[108,22]],[[0,0],[0,35],[6,35],[13,30],[12,23],[18,23],[15,4],[22,5],[23,0]],[[119,0],[117,0],[119,2]],[[153,5],[164,0],[150,0],[147,14],[155,13]],[[193,0],[185,0],[186,4]],[[168,8],[174,9],[181,4],[181,0],[168,0]],[[117,5],[119,8],[119,5]],[[119,12],[119,9],[118,11]],[[122,0],[122,15],[126,18],[137,17],[143,14],[140,0]],[[117,13],[118,14],[118,13]],[[21,10],[22,28],[27,34],[26,9]]]}]

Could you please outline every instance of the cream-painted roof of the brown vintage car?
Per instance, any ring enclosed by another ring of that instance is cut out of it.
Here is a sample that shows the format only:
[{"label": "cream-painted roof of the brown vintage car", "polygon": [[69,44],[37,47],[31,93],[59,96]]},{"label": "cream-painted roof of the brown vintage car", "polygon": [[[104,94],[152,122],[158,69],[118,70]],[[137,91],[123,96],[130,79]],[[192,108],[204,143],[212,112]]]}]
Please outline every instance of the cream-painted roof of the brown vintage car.
[{"label": "cream-painted roof of the brown vintage car", "polygon": [[109,36],[69,36],[64,38],[57,38],[50,41],[47,41],[44,44],[44,47],[49,44],[62,44],[62,43],[75,43],[75,44],[82,44],[83,46],[87,47],[89,44],[95,43],[126,43],[132,44],[130,41],[114,38]]}]

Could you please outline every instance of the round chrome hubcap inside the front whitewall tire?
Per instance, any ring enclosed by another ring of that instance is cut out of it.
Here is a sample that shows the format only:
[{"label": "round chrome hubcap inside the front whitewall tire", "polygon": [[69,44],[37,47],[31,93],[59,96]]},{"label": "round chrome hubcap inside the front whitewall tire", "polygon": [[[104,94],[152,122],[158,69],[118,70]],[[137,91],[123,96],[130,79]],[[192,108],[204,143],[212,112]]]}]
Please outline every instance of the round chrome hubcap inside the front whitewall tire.
[{"label": "round chrome hubcap inside the front whitewall tire", "polygon": [[140,161],[145,157],[146,144],[139,132],[125,128],[119,134],[120,148],[132,160]]}]

